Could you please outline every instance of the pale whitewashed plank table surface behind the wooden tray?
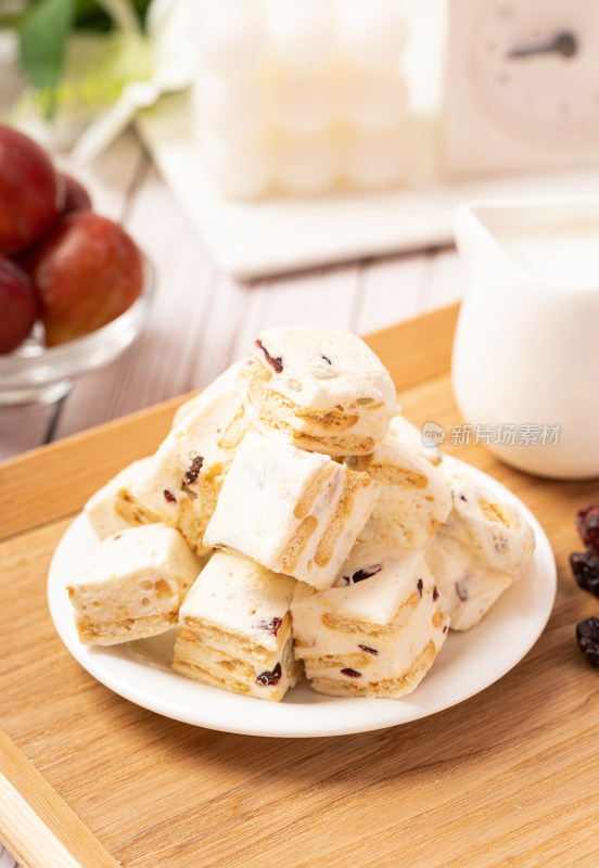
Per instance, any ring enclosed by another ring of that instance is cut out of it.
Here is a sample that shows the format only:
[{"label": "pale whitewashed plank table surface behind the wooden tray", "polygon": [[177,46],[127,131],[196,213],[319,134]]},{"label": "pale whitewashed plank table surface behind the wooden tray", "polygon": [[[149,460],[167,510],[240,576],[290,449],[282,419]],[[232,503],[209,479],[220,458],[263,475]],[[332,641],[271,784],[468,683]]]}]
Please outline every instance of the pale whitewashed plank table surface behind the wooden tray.
[{"label": "pale whitewashed plank table surface behind the wooden tray", "polygon": [[[56,406],[0,409],[0,461],[206,385],[266,326],[366,333],[449,304],[463,290],[454,250],[240,283],[215,268],[133,130],[89,166],[59,162],[88,187],[95,209],[122,221],[148,253],[157,292],[142,336],[112,366],[77,381]],[[0,868],[14,865],[0,845]]]}]

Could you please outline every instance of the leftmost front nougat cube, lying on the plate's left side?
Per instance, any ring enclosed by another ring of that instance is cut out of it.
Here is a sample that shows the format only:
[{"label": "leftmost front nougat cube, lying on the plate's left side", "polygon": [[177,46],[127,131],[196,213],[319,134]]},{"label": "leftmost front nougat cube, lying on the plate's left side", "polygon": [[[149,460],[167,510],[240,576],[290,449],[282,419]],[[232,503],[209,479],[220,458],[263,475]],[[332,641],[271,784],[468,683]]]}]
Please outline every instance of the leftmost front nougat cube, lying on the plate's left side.
[{"label": "leftmost front nougat cube, lying on the plate's left side", "polygon": [[79,639],[117,644],[164,633],[202,569],[181,535],[164,524],[103,539],[68,586]]}]

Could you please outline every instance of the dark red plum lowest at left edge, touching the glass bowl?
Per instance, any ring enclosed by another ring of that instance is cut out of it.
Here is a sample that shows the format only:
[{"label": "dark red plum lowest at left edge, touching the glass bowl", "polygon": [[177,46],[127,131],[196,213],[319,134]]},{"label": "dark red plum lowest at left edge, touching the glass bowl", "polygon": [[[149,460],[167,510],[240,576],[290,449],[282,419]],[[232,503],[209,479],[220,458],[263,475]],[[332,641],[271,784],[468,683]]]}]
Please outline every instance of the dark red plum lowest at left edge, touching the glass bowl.
[{"label": "dark red plum lowest at left edge, touching the glass bowl", "polygon": [[0,353],[12,353],[27,337],[38,308],[27,275],[0,254]]}]

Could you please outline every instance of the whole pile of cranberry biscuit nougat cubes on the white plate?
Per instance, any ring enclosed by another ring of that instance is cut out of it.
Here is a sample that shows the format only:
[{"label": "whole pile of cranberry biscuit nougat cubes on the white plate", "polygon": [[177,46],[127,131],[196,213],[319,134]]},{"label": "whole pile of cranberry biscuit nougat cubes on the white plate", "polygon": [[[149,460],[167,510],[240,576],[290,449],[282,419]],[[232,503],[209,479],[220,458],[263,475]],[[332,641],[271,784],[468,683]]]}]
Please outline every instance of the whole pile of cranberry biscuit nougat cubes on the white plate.
[{"label": "whole pile of cranberry biscuit nougat cubes on the white plate", "polygon": [[270,700],[303,671],[332,695],[410,692],[534,548],[343,330],[266,329],[86,512],[102,541],[68,588],[81,641],[178,622],[176,672]]}]

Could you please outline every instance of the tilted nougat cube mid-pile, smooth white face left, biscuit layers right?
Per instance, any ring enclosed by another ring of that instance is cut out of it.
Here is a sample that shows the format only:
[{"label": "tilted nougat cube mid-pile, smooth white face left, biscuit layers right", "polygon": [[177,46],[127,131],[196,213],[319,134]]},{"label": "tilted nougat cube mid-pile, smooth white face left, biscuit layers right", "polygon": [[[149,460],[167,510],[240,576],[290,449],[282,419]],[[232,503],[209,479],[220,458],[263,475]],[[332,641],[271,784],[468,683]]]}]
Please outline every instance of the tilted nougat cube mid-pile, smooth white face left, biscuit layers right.
[{"label": "tilted nougat cube mid-pile, smooth white face left, biscuit layers right", "polygon": [[331,587],[379,496],[379,483],[279,438],[243,438],[204,536],[315,588]]}]

